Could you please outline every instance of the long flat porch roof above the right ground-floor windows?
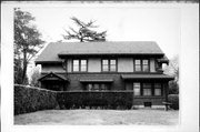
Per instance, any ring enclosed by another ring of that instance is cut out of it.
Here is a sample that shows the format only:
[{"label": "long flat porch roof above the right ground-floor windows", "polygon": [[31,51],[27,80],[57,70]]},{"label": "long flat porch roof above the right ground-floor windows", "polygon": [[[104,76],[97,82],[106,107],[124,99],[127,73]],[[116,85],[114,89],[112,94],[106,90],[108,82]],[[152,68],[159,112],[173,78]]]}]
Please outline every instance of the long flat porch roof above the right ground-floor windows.
[{"label": "long flat porch roof above the right ground-floor windows", "polygon": [[122,74],[123,80],[173,80],[174,78],[167,74]]}]

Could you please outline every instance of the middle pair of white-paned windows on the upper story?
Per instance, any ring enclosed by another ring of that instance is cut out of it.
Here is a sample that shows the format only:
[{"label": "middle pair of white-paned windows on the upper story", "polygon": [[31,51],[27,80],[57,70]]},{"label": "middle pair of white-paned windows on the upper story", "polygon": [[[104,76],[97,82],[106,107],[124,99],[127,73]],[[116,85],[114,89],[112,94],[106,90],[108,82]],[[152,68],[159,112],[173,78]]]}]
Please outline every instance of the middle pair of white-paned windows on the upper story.
[{"label": "middle pair of white-paned windows on the upper story", "polygon": [[114,59],[112,60],[102,60],[102,71],[117,71],[117,62]]}]

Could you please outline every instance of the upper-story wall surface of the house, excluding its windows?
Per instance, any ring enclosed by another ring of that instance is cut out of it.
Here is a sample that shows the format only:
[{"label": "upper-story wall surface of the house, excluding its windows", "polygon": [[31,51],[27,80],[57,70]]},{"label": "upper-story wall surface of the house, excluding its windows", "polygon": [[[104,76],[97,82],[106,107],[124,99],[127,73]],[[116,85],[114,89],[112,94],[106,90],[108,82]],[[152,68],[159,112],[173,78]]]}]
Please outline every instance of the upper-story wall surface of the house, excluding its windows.
[{"label": "upper-story wall surface of the house, excluding its windows", "polygon": [[[156,71],[156,59],[149,58],[149,72]],[[66,69],[62,64],[43,64],[42,72],[60,72],[64,73],[66,71],[72,72],[72,59],[67,59]],[[133,58],[116,58],[117,62],[117,72],[134,72],[134,59]],[[102,59],[101,58],[89,58],[87,59],[87,72],[102,72]]]}]

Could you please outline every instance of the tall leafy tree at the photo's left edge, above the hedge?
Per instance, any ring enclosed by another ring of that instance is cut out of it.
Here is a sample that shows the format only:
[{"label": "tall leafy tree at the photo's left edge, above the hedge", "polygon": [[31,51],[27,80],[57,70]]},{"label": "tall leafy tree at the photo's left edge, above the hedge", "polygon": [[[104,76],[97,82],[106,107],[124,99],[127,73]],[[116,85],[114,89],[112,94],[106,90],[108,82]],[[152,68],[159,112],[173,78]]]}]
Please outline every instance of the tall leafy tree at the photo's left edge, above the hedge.
[{"label": "tall leafy tree at the photo's left edge, above the hedge", "polygon": [[26,84],[27,67],[44,43],[32,21],[31,13],[14,9],[14,82],[20,84]]}]

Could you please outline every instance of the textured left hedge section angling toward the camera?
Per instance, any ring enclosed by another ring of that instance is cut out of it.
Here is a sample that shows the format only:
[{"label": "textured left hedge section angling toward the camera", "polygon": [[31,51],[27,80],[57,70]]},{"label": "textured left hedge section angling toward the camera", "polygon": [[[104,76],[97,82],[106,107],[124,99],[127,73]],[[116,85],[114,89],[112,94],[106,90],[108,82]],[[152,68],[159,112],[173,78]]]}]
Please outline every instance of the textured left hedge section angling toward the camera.
[{"label": "textured left hedge section angling toward the camera", "polygon": [[14,115],[54,109],[57,105],[57,92],[14,85]]}]

